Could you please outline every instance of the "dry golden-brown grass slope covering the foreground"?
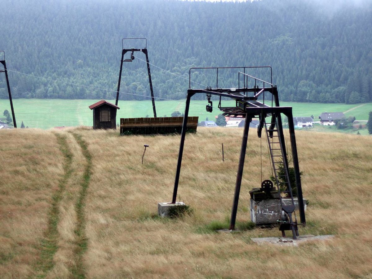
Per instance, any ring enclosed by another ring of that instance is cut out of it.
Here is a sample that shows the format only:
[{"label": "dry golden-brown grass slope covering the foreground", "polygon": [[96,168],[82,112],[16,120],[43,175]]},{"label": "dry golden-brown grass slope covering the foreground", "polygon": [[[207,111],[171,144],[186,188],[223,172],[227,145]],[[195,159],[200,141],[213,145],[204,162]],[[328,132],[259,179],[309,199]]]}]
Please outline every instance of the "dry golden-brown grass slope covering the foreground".
[{"label": "dry golden-brown grass slope covering the foreground", "polygon": [[[179,199],[193,214],[170,220],[157,217],[157,202],[171,199],[179,136],[1,131],[1,277],[370,278],[371,137],[296,131],[309,201],[299,232],[336,237],[277,247],[251,241],[280,236],[276,228],[211,230],[230,217],[241,134],[198,128],[186,136]],[[250,219],[248,191],[260,185],[260,160],[251,133],[238,226]]]}]

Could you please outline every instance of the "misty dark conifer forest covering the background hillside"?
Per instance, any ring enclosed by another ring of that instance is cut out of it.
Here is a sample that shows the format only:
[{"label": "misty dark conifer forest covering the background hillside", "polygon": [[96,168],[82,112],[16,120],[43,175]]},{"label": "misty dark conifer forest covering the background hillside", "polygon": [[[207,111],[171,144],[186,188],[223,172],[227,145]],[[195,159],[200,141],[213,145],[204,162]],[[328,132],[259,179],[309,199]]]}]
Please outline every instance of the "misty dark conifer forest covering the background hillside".
[{"label": "misty dark conifer forest covering the background hillside", "polygon": [[[140,37],[148,39],[151,64],[187,79],[190,67],[271,65],[282,100],[372,102],[371,1],[2,0],[1,6],[7,67],[48,78],[10,72],[14,98],[112,99],[115,92],[68,83],[115,91],[121,39]],[[156,97],[185,97],[187,80],[151,71]],[[193,78],[213,86],[213,74]],[[124,64],[121,89],[150,94],[143,61]],[[0,97],[7,97],[3,75]]]}]

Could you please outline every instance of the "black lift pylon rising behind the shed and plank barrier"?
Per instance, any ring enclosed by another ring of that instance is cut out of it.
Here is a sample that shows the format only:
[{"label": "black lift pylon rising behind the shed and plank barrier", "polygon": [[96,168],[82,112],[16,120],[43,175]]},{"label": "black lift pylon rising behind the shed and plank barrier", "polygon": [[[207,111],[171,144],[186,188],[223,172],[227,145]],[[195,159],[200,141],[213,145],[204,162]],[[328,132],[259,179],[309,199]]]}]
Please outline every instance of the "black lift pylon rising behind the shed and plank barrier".
[{"label": "black lift pylon rising behind the shed and plank barrier", "polygon": [[[124,40],[145,40],[145,48],[124,48]],[[150,62],[148,61],[147,39],[146,38],[125,38],[125,39],[122,39],[121,63],[120,63],[118,90],[116,91],[115,105],[117,106],[118,105],[118,101],[119,101],[120,83],[121,83],[121,74],[122,74],[122,70],[123,70],[123,62],[132,62],[134,60],[134,58],[135,58],[134,52],[136,52],[136,51],[143,52],[146,55],[148,82],[150,84],[150,92],[151,92],[151,100],[153,102],[154,117],[156,117],[155,99],[154,99],[154,91],[153,91],[153,82],[151,80]],[[124,55],[127,52],[131,52],[131,57],[129,59],[124,59]]]}]

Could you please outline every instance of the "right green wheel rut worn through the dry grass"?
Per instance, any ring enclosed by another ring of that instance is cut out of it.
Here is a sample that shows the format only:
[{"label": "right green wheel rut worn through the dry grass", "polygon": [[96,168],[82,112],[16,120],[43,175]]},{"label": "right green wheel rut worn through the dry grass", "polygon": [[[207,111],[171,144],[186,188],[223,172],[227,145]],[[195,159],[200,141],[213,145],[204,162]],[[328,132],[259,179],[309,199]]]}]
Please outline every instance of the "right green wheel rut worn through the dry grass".
[{"label": "right green wheel rut worn through the dry grass", "polygon": [[76,202],[76,248],[74,249],[75,255],[75,266],[71,267],[71,274],[74,278],[85,278],[85,268],[83,264],[83,255],[87,250],[88,240],[85,234],[85,214],[84,206],[87,196],[87,191],[90,182],[91,168],[92,168],[92,156],[89,153],[87,143],[82,139],[81,135],[72,132],[75,140],[81,147],[81,151],[86,159],[86,166],[83,174],[83,179],[81,181],[81,189]]}]

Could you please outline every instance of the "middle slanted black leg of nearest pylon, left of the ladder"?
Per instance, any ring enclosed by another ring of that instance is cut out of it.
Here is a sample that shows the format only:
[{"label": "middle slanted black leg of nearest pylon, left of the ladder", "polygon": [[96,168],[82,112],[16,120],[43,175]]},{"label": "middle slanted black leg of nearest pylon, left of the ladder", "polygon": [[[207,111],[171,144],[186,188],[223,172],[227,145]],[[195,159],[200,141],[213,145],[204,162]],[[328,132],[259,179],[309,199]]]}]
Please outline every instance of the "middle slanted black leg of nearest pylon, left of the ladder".
[{"label": "middle slanted black leg of nearest pylon, left of the ladder", "polygon": [[249,124],[250,124],[251,120],[252,120],[252,116],[247,115],[246,123],[244,125],[243,139],[241,141],[239,166],[238,166],[238,173],[237,173],[237,176],[236,176],[234,201],[232,203],[229,230],[234,230],[235,229],[235,220],[236,220],[236,213],[238,211],[241,178],[243,177],[244,160],[246,158],[246,150],[247,150],[248,131],[249,131]]}]

